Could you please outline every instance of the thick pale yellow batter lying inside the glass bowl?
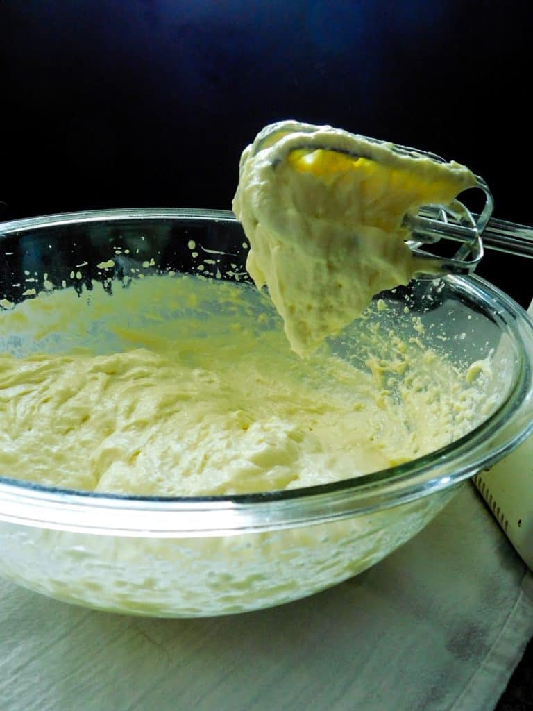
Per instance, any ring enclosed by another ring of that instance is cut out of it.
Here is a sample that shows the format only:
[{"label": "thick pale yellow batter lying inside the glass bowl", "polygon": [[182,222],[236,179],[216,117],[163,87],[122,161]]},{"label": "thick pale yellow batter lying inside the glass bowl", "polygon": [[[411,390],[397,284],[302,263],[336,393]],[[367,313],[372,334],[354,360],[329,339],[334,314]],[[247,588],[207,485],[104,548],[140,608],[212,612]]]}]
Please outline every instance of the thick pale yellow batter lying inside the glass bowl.
[{"label": "thick pale yellow batter lying inside the glass bowl", "polygon": [[247,284],[147,277],[88,301],[60,290],[3,314],[23,355],[0,357],[6,476],[154,496],[296,488],[413,459],[481,417],[483,368],[392,336],[382,304],[345,335],[369,344],[355,367],[328,348],[301,360]]}]

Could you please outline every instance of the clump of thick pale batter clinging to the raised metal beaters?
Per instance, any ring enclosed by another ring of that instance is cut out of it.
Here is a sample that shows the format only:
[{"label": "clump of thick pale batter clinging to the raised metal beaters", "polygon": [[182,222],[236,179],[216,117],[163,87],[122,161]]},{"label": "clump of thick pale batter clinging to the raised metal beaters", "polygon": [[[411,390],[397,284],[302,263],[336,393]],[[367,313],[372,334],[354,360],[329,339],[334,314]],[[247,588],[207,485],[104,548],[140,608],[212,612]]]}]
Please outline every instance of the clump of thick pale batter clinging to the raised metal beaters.
[{"label": "clump of thick pale batter clinging to the raised metal beaters", "polygon": [[428,271],[404,244],[402,220],[475,182],[455,162],[330,126],[286,121],[260,132],[242,154],[233,210],[252,247],[247,269],[268,287],[294,351],[311,353],[372,296]]}]

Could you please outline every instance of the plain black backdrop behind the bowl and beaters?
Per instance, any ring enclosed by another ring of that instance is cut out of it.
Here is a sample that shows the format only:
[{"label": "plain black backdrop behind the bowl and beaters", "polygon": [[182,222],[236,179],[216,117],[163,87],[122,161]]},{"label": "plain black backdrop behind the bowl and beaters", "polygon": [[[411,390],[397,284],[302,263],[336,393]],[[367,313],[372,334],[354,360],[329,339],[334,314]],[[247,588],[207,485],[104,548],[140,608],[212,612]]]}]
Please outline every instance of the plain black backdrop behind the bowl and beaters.
[{"label": "plain black backdrop behind the bowl and beaters", "polygon": [[[281,118],[434,151],[531,223],[529,1],[4,0],[1,218],[230,208],[242,148]],[[478,273],[522,304],[533,262]]]}]

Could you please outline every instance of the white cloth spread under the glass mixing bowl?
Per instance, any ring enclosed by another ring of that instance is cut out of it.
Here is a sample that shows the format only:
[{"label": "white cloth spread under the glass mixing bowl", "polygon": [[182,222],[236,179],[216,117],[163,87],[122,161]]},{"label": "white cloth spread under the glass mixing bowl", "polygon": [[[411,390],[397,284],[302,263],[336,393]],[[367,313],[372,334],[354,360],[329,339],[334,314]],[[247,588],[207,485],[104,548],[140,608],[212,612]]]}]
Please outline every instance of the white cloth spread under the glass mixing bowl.
[{"label": "white cloth spread under the glass mixing bowl", "polygon": [[490,711],[533,634],[533,574],[473,486],[371,570],[212,619],[89,611],[0,582],[6,711]]}]

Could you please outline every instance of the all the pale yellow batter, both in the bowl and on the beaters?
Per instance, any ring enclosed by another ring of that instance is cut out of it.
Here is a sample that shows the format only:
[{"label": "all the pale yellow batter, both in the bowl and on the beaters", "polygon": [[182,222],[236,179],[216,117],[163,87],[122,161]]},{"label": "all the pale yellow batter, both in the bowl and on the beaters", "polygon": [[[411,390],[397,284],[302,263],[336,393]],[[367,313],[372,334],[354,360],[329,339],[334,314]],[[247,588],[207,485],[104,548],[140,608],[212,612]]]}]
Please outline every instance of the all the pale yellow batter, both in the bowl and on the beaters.
[{"label": "all the pale yellow batter, both in the bowl and on the beaters", "polygon": [[[404,337],[384,301],[353,321],[426,267],[404,244],[404,215],[473,184],[464,166],[331,127],[267,127],[242,155],[234,209],[271,301],[247,284],[168,275],[112,298],[94,284],[88,304],[66,289],[7,311],[2,331],[22,345],[0,356],[0,471],[219,495],[348,479],[448,444],[490,409],[486,364],[451,365],[420,324]],[[347,324],[343,358],[318,348]]]}]

